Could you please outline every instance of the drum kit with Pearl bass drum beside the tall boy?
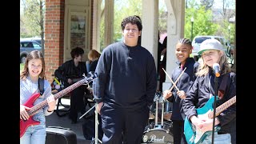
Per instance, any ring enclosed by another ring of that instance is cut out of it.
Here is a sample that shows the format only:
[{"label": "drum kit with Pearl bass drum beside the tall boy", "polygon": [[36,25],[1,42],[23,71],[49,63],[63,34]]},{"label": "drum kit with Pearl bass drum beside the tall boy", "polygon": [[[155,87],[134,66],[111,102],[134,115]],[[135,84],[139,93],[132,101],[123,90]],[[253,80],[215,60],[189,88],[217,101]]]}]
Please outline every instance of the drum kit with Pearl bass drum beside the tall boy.
[{"label": "drum kit with Pearl bass drum beside the tall boy", "polygon": [[[158,114],[158,110],[161,110],[161,114]],[[154,103],[150,106],[149,125],[142,135],[142,143],[174,143],[171,110],[172,105],[162,97],[162,92],[156,92]]]}]

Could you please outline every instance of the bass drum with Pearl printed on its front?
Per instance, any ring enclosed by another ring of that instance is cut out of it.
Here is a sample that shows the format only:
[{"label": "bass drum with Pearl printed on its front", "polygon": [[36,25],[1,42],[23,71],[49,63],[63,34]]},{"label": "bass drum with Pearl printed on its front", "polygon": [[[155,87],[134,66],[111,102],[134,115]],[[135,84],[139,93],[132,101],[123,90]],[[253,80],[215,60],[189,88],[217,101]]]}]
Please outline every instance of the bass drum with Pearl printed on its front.
[{"label": "bass drum with Pearl printed on its front", "polygon": [[146,126],[144,134],[142,135],[142,143],[144,144],[173,144],[173,125],[172,122],[164,122],[163,126],[158,122],[158,125],[154,125],[152,122],[149,126]]}]

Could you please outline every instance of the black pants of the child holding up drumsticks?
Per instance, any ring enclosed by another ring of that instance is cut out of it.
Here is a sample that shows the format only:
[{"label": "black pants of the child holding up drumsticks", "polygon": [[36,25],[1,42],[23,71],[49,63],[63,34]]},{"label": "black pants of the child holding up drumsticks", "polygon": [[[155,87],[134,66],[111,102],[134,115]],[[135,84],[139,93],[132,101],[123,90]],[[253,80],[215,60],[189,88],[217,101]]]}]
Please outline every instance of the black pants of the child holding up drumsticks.
[{"label": "black pants of the child holding up drumsticks", "polygon": [[186,138],[184,135],[184,121],[172,120],[172,122],[173,122],[174,144],[186,144]]}]

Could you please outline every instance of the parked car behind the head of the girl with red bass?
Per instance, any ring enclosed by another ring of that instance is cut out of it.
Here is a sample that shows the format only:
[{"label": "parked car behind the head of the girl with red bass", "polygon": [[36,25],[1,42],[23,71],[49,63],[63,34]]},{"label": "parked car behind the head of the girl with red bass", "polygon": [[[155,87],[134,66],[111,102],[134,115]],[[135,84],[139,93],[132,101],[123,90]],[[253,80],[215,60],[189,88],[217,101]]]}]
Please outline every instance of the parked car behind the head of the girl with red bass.
[{"label": "parked car behind the head of the girl with red bass", "polygon": [[32,50],[42,50],[41,44],[34,40],[20,39],[20,63],[26,62],[26,56]]}]

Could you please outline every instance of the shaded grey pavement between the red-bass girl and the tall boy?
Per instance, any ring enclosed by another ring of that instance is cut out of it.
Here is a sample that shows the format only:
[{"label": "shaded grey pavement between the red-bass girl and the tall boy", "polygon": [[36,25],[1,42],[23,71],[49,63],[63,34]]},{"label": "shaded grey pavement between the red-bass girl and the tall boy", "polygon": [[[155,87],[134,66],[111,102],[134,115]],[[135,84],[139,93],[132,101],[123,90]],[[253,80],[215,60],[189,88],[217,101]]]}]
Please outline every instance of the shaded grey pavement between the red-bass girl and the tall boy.
[{"label": "shaded grey pavement between the red-bass girl and the tall boy", "polygon": [[[70,99],[69,98],[62,98],[62,103],[66,105],[70,105]],[[88,108],[87,108],[88,107]],[[90,110],[90,107],[87,106],[86,110]],[[60,106],[60,109],[66,109],[63,106]],[[90,110],[90,112],[92,112]],[[89,112],[88,112],[89,113]],[[87,114],[86,114],[87,115]],[[68,115],[59,117],[56,114],[56,110],[54,110],[53,114],[50,114],[49,116],[46,116],[46,127],[48,126],[61,126],[64,128],[69,128],[70,130],[74,131],[74,133],[77,136],[77,144],[90,144],[94,143],[91,139],[86,139],[82,132],[82,123],[86,121],[85,118],[81,118],[82,114],[78,114],[78,122],[75,124],[71,124],[71,120],[68,118]],[[98,142],[99,143],[99,142]]]}]

